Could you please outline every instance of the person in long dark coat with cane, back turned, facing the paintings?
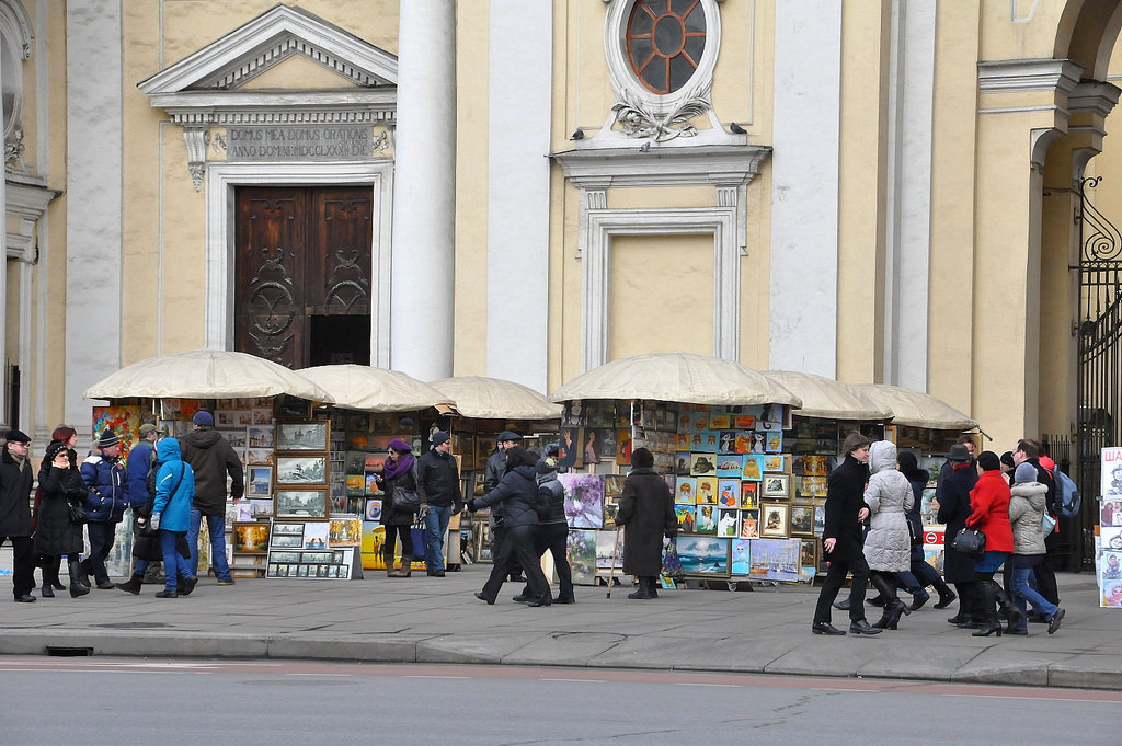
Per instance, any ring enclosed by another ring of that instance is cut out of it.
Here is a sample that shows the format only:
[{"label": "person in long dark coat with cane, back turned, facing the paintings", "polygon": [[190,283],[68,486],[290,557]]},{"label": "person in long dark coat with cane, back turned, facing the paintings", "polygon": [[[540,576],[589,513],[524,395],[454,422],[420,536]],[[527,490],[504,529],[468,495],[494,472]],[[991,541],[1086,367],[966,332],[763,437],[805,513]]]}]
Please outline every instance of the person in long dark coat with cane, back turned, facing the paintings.
[{"label": "person in long dark coat with cane, back turned, facing the paintings", "polygon": [[662,572],[662,537],[678,535],[674,497],[666,480],[655,473],[651,451],[645,448],[632,451],[632,467],[616,515],[616,524],[627,526],[624,572],[638,579],[638,590],[627,598],[657,598],[655,581]]}]

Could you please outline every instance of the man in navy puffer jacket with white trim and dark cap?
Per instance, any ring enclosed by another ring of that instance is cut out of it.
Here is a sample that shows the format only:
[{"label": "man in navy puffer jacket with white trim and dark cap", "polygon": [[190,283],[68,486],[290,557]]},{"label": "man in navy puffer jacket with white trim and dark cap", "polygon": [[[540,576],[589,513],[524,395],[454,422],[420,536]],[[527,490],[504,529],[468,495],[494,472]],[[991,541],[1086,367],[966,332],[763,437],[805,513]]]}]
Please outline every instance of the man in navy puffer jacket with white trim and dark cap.
[{"label": "man in navy puffer jacket with white trim and dark cap", "polygon": [[129,507],[129,485],[125,464],[121,463],[121,442],[111,430],[101,433],[98,450],[82,462],[82,479],[85,481],[85,512],[89,515],[86,531],[90,533],[90,555],[82,560],[80,572],[85,584],[90,574],[98,588],[116,588],[109,580],[105,558],[113,549],[117,524]]}]

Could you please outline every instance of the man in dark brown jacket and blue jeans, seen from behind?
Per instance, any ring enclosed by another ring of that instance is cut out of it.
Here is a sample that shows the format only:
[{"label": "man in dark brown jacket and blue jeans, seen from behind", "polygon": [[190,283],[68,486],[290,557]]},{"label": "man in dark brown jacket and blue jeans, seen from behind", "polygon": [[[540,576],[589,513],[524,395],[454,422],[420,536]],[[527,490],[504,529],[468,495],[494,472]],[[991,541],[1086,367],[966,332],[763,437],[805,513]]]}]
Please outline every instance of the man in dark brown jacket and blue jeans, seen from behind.
[{"label": "man in dark brown jacket and blue jeans, seen from behind", "polygon": [[241,459],[230,442],[214,430],[214,417],[200,409],[191,421],[194,430],[180,439],[180,453],[195,475],[195,499],[187,526],[187,546],[192,575],[199,574],[199,527],[206,516],[211,536],[211,568],[219,586],[232,586],[230,565],[226,561],[226,476],[230,475],[230,497],[240,499],[245,486]]}]

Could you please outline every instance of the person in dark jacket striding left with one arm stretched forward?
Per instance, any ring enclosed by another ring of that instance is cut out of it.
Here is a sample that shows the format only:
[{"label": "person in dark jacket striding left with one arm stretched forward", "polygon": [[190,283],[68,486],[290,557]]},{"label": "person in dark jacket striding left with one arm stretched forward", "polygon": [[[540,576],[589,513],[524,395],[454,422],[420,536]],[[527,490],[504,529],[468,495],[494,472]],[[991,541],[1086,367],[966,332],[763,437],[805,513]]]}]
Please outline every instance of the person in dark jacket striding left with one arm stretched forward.
[{"label": "person in dark jacket striding left with one arm stretched forward", "polygon": [[507,449],[506,472],[498,486],[479,499],[467,501],[466,507],[472,513],[479,508],[502,505],[506,523],[506,538],[494,559],[490,577],[482,590],[476,592],[476,598],[480,601],[495,604],[511,569],[517,562],[530,583],[531,598],[526,606],[550,606],[553,602],[549,581],[545,580],[545,573],[534,553],[534,533],[539,524],[536,462],[537,459],[521,445]]}]

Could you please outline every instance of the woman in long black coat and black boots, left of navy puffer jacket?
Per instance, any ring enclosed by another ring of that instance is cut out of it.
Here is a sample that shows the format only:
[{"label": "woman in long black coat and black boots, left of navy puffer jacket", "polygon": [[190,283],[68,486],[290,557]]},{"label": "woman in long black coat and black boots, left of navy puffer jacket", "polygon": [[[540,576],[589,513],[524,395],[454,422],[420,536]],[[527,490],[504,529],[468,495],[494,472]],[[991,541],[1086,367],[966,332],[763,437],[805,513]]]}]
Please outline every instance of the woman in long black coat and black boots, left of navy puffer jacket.
[{"label": "woman in long black coat and black boots, left of navy puffer jacket", "polygon": [[43,598],[54,598],[54,589],[65,590],[58,569],[65,555],[68,562],[71,598],[85,596],[90,589],[79,582],[79,554],[84,549],[82,524],[72,523],[70,505],[85,503],[86,487],[77,468],[77,454],[66,443],[52,441],[39,467],[39,507],[35,527],[35,553],[43,564]]}]

